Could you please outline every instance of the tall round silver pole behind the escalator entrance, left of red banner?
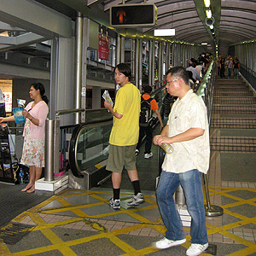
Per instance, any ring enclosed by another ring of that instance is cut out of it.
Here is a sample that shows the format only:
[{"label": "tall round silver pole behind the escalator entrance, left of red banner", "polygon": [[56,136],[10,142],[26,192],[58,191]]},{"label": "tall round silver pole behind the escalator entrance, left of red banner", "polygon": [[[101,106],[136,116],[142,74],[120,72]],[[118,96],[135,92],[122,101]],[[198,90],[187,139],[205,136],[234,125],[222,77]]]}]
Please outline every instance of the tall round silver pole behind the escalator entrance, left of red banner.
[{"label": "tall round silver pole behind the escalator entrance, left of red banner", "polygon": [[[76,43],[75,43],[75,84],[74,84],[74,108],[81,108],[82,92],[82,49],[83,49],[83,17],[78,13],[76,19]],[[75,124],[81,122],[80,113],[75,113]]]}]

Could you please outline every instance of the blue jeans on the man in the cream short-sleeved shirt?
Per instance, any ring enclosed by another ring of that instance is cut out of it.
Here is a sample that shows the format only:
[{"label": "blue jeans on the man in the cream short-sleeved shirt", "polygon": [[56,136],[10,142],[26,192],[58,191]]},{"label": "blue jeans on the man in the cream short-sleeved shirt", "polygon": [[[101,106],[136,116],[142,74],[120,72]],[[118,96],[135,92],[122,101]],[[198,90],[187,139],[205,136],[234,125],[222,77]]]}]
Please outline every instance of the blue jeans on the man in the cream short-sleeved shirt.
[{"label": "blue jeans on the man in the cream short-sleeved shirt", "polygon": [[181,184],[191,216],[191,241],[199,244],[208,242],[201,176],[202,173],[196,169],[183,173],[161,172],[156,196],[161,216],[166,225],[167,239],[177,241],[185,237],[173,199],[174,192]]}]

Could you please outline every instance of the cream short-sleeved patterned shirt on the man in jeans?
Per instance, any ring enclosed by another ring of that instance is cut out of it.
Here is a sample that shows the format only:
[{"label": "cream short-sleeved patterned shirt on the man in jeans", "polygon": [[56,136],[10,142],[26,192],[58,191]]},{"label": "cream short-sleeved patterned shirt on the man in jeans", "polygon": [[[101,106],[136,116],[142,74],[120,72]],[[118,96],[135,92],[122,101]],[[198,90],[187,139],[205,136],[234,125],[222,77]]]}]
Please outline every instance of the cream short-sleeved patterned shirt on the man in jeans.
[{"label": "cream short-sleeved patterned shirt on the man in jeans", "polygon": [[201,128],[204,134],[195,139],[172,143],[172,154],[166,154],[162,169],[166,172],[188,172],[197,169],[207,173],[210,159],[209,129],[205,103],[193,90],[174,102],[167,122],[168,137],[174,137],[190,128]]}]

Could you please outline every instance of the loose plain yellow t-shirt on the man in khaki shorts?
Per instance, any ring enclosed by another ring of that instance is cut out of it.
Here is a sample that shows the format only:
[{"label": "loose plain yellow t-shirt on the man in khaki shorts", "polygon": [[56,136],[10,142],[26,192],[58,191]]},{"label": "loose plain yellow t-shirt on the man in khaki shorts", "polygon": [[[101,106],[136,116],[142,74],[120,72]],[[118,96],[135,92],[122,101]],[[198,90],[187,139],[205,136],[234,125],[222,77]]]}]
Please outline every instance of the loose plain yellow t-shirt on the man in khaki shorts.
[{"label": "loose plain yellow t-shirt on the man in khaki shorts", "polygon": [[113,111],[122,114],[123,117],[121,119],[113,117],[113,127],[109,143],[116,146],[137,144],[141,94],[134,84],[125,84],[118,90]]}]

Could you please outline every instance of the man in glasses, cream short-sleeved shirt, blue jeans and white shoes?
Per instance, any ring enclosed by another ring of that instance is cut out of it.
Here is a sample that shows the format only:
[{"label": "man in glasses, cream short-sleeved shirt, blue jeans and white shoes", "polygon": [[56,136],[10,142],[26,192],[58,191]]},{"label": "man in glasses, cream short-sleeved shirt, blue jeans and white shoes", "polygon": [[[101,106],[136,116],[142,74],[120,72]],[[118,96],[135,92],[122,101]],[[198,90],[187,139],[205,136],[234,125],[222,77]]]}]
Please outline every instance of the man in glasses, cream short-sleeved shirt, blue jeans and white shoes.
[{"label": "man in glasses, cream short-sleeved shirt, blue jeans and white shoes", "polygon": [[191,216],[191,246],[188,256],[200,255],[208,247],[205,207],[201,177],[207,173],[210,158],[207,108],[189,87],[189,76],[183,67],[166,73],[166,90],[177,101],[172,106],[167,125],[154,137],[154,144],[172,144],[173,153],[166,154],[156,196],[160,214],[166,225],[166,237],[154,243],[164,249],[186,241],[181,218],[173,195],[181,184]]}]

